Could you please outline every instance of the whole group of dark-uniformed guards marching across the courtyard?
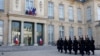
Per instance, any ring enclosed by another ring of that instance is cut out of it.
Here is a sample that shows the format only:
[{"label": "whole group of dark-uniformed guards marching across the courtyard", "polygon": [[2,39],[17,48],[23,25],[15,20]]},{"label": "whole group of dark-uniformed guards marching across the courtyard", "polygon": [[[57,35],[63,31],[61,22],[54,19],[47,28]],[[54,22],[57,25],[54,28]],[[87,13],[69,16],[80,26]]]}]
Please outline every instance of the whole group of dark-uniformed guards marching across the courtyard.
[{"label": "whole group of dark-uniformed guards marching across the courtyard", "polygon": [[79,53],[83,56],[84,54],[90,55],[90,51],[94,55],[95,45],[94,45],[93,36],[91,37],[91,40],[89,39],[88,35],[85,36],[85,39],[83,39],[83,36],[79,36],[79,40],[76,40],[76,36],[74,36],[74,40],[71,40],[71,37],[69,37],[69,40],[62,40],[62,38],[59,38],[57,40],[57,49],[58,52],[67,53],[67,50],[69,50],[69,54],[72,53],[72,50],[74,51],[75,55],[77,55],[78,50]]}]

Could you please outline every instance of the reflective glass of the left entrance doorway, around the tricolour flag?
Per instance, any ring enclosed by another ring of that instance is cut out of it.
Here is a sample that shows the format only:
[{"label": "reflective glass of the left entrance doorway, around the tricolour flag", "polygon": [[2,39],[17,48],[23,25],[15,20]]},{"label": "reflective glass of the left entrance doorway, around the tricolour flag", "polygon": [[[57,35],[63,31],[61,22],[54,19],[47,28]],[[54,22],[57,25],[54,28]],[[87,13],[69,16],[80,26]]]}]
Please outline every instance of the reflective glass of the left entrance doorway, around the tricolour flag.
[{"label": "reflective glass of the left entrance doorway, around the tricolour flag", "polygon": [[21,41],[21,24],[20,24],[20,22],[13,21],[12,22],[12,38],[11,38],[11,42],[14,45],[16,45],[15,44],[15,39],[16,38],[19,41],[19,43],[18,43],[18,45],[19,45],[20,41]]}]

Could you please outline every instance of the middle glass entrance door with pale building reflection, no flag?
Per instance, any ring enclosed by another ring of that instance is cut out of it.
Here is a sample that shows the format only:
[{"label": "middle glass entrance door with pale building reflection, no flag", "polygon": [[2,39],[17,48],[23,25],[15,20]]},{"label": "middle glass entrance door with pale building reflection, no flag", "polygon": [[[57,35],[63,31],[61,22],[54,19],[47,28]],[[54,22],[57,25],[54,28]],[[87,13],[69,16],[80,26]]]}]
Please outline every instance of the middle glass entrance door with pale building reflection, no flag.
[{"label": "middle glass entrance door with pale building reflection, no flag", "polygon": [[27,46],[33,45],[34,38],[33,38],[33,24],[32,23],[24,23],[24,44]]}]

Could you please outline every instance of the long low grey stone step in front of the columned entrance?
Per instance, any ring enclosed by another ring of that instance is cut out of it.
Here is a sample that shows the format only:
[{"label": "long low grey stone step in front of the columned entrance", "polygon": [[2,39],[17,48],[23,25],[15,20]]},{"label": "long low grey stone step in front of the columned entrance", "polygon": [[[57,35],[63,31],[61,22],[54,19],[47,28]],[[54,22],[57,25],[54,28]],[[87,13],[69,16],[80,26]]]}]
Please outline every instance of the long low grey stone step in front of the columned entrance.
[{"label": "long low grey stone step in front of the columned entrance", "polygon": [[1,46],[0,52],[50,50],[53,48],[55,48],[55,46]]}]

